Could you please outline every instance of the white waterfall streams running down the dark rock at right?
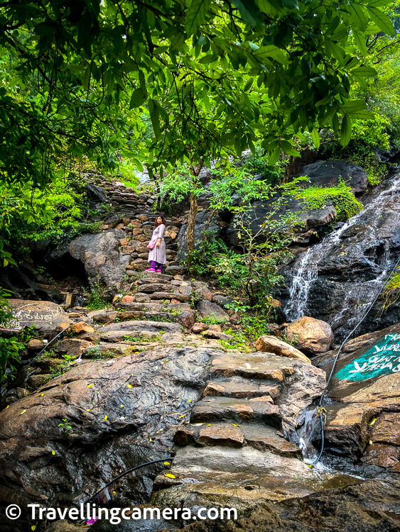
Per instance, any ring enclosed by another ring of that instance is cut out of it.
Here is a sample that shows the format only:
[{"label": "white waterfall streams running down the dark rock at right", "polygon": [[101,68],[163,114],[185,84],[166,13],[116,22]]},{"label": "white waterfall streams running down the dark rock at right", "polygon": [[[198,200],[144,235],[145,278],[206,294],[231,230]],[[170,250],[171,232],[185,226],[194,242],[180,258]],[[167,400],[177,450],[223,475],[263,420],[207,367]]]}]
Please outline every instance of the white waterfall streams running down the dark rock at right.
[{"label": "white waterfall streams running down the dark rock at right", "polygon": [[[351,250],[352,246],[360,245],[360,239],[357,240],[357,233],[360,229],[362,229],[361,245],[365,250],[376,249],[378,245],[384,246],[379,264],[371,260],[367,253],[362,259],[367,267],[369,266],[374,271],[377,270],[378,274],[374,279],[361,278],[357,279],[357,282],[348,282],[348,287],[346,286],[348,291],[340,301],[341,310],[329,321],[333,328],[342,326],[341,321],[345,322],[347,328],[350,328],[364,314],[364,310],[372,303],[390,270],[389,240],[396,232],[400,232],[400,202],[397,198],[400,193],[399,186],[400,174],[396,174],[394,178],[379,185],[367,199],[367,204],[360,213],[350,218],[320,243],[310,246],[296,259],[291,272],[290,284],[288,284],[289,299],[284,306],[289,320],[294,321],[306,315],[312,316],[308,309],[310,289],[318,279],[323,260],[328,255],[334,254],[335,259],[340,260],[340,254],[345,253],[342,248]],[[340,280],[340,282],[346,281]],[[315,317],[318,318],[318,316]]]}]

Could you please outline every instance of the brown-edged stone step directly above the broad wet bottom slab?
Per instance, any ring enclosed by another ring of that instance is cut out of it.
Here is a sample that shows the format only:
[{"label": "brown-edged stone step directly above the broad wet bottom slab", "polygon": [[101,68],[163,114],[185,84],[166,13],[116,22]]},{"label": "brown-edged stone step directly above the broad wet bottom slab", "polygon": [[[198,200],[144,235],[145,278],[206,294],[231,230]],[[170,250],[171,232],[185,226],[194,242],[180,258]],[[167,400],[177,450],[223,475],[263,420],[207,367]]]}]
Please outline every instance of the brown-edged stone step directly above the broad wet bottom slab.
[{"label": "brown-edged stone step directly above the broad wet bottom slab", "polygon": [[260,423],[195,423],[183,425],[173,436],[176,445],[224,445],[243,447],[249,445],[254,449],[269,451],[276,455],[289,456],[303,460],[301,449],[276,433],[276,428]]}]

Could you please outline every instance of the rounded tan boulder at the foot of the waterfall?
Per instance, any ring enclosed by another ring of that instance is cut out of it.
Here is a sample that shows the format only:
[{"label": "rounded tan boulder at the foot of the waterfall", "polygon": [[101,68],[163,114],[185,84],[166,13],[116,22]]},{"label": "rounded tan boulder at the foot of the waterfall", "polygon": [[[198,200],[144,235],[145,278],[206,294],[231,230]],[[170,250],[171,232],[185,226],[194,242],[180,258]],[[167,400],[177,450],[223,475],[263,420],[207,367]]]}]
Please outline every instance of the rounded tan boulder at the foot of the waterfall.
[{"label": "rounded tan boulder at the foot of the waterfall", "polygon": [[326,353],[335,339],[329,323],[308,316],[289,323],[286,326],[286,338],[308,355]]}]

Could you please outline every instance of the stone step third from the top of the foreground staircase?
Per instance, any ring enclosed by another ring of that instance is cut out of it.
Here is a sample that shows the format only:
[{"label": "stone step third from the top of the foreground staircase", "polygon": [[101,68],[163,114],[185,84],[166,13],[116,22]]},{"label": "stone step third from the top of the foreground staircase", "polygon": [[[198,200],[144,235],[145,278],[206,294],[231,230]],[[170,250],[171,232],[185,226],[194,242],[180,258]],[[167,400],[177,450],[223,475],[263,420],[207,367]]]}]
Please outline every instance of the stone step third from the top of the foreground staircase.
[{"label": "stone step third from the top of the foreground staircase", "polygon": [[208,397],[193,406],[191,423],[212,421],[264,421],[273,426],[281,426],[279,406],[271,404],[271,398],[234,399],[232,397]]}]

